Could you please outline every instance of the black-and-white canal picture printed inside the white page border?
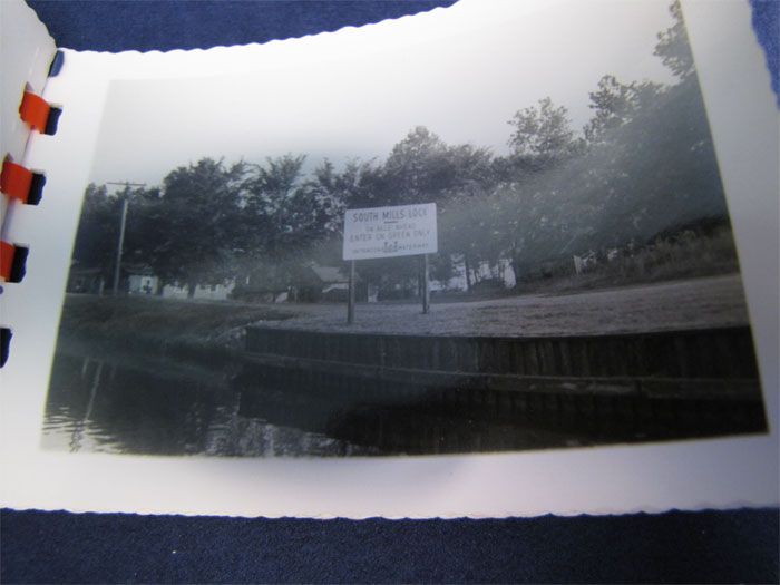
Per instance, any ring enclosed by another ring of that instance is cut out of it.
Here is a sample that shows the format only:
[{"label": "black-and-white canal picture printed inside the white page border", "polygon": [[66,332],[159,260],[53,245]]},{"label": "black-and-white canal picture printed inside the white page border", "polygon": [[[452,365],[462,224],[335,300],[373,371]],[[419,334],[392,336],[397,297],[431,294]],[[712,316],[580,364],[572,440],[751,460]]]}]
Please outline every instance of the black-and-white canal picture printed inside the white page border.
[{"label": "black-and-white canal picture printed inside the white page border", "polygon": [[[110,84],[47,450],[387,457],[768,431],[674,1]],[[500,11],[500,13],[499,13]],[[446,12],[443,10],[442,12]]]}]

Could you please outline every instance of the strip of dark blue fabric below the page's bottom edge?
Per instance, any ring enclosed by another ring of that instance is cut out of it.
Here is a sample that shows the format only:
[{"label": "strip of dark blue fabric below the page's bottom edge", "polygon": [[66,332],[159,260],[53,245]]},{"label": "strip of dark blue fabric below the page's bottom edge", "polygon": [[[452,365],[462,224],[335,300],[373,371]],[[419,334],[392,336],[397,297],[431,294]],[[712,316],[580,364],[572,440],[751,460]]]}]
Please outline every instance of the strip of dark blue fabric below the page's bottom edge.
[{"label": "strip of dark blue fabric below the page's bottom edge", "polygon": [[6,511],[3,583],[777,583],[777,510],[507,520]]}]

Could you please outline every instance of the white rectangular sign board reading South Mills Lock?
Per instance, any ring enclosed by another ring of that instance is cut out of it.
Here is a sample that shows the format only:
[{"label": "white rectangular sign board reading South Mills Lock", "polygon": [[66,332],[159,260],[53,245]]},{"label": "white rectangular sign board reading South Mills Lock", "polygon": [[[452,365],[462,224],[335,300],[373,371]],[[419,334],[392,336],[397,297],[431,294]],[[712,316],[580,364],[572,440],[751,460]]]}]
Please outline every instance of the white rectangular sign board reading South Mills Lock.
[{"label": "white rectangular sign board reading South Mills Lock", "polygon": [[347,209],[344,260],[433,254],[438,250],[436,204]]}]

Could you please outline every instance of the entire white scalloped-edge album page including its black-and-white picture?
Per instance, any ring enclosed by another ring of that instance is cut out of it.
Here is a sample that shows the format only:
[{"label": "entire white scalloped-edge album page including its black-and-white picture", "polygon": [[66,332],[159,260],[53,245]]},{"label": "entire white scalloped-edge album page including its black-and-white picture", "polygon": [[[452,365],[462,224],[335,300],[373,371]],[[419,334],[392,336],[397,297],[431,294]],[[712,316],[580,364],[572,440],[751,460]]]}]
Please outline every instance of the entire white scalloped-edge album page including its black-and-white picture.
[{"label": "entire white scalloped-edge album page including its black-and-white picture", "polygon": [[64,53],[4,506],[777,505],[778,109],[747,3]]}]

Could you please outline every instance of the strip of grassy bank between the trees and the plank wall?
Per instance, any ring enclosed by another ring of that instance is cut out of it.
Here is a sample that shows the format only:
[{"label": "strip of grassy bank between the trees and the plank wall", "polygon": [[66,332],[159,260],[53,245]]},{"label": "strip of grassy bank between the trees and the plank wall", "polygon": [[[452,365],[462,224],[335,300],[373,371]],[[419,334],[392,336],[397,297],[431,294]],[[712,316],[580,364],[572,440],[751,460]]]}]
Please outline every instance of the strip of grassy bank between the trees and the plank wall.
[{"label": "strip of grassy bank between the trees and the plank wall", "polygon": [[[72,349],[207,353],[242,350],[245,326],[417,335],[588,335],[733,326],[748,323],[739,274],[569,294],[470,302],[360,303],[347,324],[343,303],[252,304],[155,296],[69,294],[60,343]],[[61,349],[61,348],[60,348]],[[189,351],[193,350],[193,351]]]}]

